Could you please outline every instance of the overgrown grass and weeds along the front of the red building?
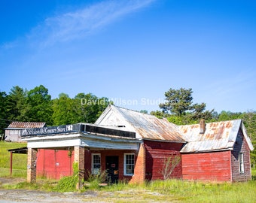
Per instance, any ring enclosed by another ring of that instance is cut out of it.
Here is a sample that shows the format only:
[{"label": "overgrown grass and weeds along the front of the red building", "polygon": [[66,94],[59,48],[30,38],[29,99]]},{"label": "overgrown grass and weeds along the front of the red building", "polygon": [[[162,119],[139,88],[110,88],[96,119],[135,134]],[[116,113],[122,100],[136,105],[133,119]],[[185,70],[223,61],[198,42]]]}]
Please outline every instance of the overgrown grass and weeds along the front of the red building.
[{"label": "overgrown grass and weeds along the front of the red building", "polygon": [[[253,173],[255,174],[255,172]],[[92,180],[92,182],[95,180]],[[72,192],[78,177],[56,180],[39,179],[35,184],[26,182],[8,185],[8,189],[40,189],[47,192]],[[86,183],[90,183],[89,181]],[[81,192],[94,191],[93,201],[104,202],[256,202],[256,181],[242,183],[202,183],[187,180],[154,180],[142,184],[120,182],[108,186],[85,185]],[[89,201],[90,199],[88,199]]]}]

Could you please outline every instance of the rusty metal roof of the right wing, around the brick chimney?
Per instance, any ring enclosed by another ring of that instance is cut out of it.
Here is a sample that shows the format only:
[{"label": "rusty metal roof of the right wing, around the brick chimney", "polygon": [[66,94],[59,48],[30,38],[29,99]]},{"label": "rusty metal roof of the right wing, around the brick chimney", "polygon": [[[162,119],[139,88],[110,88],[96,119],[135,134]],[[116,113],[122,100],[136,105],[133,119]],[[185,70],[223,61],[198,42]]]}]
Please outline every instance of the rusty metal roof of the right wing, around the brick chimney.
[{"label": "rusty metal roof of the right wing, around the brick chimney", "polygon": [[242,130],[248,147],[253,150],[242,120],[206,123],[206,130],[203,134],[200,134],[200,124],[179,126],[179,129],[187,141],[181,153],[232,149],[239,129]]}]

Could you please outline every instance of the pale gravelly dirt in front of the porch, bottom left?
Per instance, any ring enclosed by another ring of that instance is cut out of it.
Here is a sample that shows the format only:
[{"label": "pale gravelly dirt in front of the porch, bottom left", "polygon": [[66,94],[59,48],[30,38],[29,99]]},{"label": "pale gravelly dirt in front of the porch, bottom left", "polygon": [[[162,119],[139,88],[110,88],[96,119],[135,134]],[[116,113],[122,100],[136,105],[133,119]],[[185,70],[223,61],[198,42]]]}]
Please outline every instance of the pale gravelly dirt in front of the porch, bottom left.
[{"label": "pale gravelly dirt in front of the porch, bottom left", "polygon": [[[30,189],[2,189],[5,184],[23,182],[23,178],[0,177],[1,203],[60,203],[60,202],[170,202],[169,197],[151,191],[86,191],[86,192],[43,192]],[[145,198],[145,195],[147,198]],[[154,196],[154,200],[151,198]],[[156,200],[157,198],[157,200]],[[153,200],[153,201],[152,201]]]}]

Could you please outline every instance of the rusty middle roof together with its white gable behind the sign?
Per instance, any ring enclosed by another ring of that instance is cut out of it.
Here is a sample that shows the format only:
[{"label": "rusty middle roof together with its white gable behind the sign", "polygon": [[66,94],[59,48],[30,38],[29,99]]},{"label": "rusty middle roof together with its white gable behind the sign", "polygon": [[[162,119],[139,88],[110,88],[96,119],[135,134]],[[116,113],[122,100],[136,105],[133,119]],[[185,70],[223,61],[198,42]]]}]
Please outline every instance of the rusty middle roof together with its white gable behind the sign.
[{"label": "rusty middle roof together with its white gable behind the sign", "polygon": [[[111,116],[107,116],[107,114]],[[185,143],[178,126],[166,119],[158,119],[152,115],[142,114],[126,108],[109,105],[97,125],[122,126],[123,129],[136,132],[142,139],[173,141]],[[138,138],[138,136],[137,136]]]}]

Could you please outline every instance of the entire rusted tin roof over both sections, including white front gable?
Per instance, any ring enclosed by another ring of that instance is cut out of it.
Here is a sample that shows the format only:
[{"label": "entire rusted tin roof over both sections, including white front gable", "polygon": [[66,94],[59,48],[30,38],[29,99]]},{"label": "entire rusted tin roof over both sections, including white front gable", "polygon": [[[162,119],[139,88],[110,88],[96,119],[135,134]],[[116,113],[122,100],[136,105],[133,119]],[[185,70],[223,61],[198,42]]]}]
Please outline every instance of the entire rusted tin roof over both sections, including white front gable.
[{"label": "entire rusted tin roof over both sections, including white front gable", "polygon": [[242,120],[207,123],[200,133],[200,124],[176,126],[166,119],[109,105],[95,124],[136,132],[136,138],[141,139],[187,142],[181,150],[184,153],[230,149],[241,129],[250,150],[253,150]]}]

